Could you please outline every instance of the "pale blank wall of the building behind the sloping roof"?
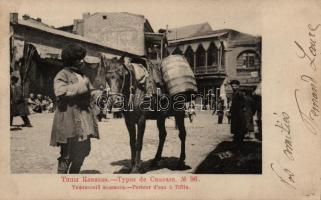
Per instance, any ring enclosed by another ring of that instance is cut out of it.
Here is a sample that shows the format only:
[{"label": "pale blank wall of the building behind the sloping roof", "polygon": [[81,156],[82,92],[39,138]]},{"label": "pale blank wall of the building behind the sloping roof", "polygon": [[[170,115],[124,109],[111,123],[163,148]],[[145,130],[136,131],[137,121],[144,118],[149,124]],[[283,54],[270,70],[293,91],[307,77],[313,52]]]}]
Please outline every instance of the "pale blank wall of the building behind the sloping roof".
[{"label": "pale blank wall of the building behind the sloping roof", "polygon": [[[106,17],[104,19],[103,17]],[[133,54],[145,54],[145,18],[127,13],[97,13],[84,19],[84,37]]]}]

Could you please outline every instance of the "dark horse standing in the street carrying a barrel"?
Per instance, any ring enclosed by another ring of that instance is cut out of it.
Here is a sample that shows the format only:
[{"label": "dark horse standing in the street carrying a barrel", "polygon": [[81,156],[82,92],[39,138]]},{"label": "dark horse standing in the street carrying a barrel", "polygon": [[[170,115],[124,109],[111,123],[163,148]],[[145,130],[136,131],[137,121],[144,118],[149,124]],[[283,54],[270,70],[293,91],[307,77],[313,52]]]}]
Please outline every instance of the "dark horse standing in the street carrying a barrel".
[{"label": "dark horse standing in the street carrying a barrel", "polygon": [[[113,102],[118,102],[121,97],[123,103],[123,114],[126,127],[130,137],[131,150],[131,172],[137,173],[140,168],[141,151],[143,146],[143,138],[147,119],[157,120],[159,130],[159,145],[156,155],[152,162],[152,167],[158,164],[161,160],[164,142],[166,139],[165,120],[168,116],[174,116],[176,125],[179,129],[179,138],[181,140],[181,153],[177,163],[177,169],[182,169],[185,166],[185,138],[186,130],[184,125],[184,103],[173,100],[168,101],[169,109],[155,110],[145,109],[142,102],[146,100],[146,90],[139,86],[135,79],[133,69],[126,67],[117,59],[107,60],[106,66],[106,81],[110,86],[110,96]],[[152,98],[155,100],[155,96]],[[137,126],[137,128],[136,128]]]}]

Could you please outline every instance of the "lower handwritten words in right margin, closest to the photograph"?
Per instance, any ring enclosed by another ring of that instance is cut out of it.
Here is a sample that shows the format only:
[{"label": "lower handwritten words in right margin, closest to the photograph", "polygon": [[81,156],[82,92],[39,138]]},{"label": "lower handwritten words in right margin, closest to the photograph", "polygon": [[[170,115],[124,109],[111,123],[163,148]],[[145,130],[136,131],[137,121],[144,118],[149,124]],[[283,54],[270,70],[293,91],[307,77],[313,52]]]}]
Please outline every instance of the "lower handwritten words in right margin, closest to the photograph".
[{"label": "lower handwritten words in right margin, closest to the photograph", "polygon": [[[284,134],[283,148],[282,152],[285,156],[285,159],[288,161],[294,161],[294,153],[293,153],[293,138],[291,135],[291,126],[290,126],[290,116],[286,112],[282,112],[281,114],[273,113],[277,120],[275,122],[275,126],[279,129],[279,131]],[[294,186],[294,172],[289,168],[284,168],[280,163],[271,163],[270,167],[272,171],[275,173],[277,177],[279,177],[280,181],[286,184],[288,187],[292,189],[296,189]]]}]

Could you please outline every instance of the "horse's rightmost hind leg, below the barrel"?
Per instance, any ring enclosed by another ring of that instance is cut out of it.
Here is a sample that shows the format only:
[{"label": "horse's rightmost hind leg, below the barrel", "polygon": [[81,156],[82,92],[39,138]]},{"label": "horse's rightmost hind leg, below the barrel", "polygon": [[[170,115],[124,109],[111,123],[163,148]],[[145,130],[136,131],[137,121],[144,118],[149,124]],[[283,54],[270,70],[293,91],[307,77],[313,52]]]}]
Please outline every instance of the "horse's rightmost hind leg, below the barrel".
[{"label": "horse's rightmost hind leg, below the barrel", "polygon": [[175,120],[177,122],[178,130],[179,130],[179,139],[181,140],[181,155],[178,160],[177,168],[182,168],[185,164],[185,140],[186,140],[186,130],[184,124],[184,112],[177,112],[175,114]]}]

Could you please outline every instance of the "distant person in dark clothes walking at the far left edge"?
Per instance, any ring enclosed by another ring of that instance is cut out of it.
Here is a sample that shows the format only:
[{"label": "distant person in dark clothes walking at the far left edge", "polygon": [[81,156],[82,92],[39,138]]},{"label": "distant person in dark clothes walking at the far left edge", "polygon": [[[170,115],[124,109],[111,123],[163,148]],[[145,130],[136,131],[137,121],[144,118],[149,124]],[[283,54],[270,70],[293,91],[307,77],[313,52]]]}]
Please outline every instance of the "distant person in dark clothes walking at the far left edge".
[{"label": "distant person in dark clothes walking at the far left edge", "polygon": [[23,91],[20,84],[18,84],[19,78],[11,76],[10,80],[10,126],[13,125],[13,118],[20,116],[24,122],[23,127],[32,127],[28,118],[29,109],[28,103],[23,97]]}]

